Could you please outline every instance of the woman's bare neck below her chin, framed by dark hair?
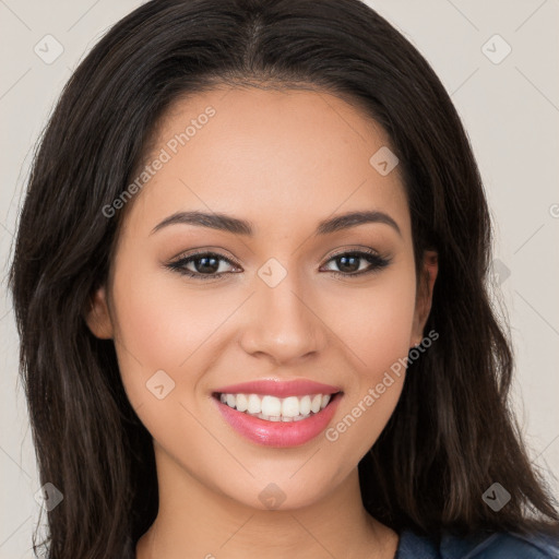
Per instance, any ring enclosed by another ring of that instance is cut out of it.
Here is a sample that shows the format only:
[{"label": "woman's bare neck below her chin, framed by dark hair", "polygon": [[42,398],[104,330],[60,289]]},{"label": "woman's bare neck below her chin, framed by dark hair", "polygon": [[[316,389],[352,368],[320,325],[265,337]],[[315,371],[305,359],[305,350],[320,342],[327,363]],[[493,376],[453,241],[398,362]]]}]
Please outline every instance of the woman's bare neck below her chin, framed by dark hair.
[{"label": "woman's bare neck below her chin, framed by dark hair", "polygon": [[155,444],[159,508],[136,559],[392,559],[397,535],[362,507],[357,467],[319,501],[260,510],[212,490]]}]

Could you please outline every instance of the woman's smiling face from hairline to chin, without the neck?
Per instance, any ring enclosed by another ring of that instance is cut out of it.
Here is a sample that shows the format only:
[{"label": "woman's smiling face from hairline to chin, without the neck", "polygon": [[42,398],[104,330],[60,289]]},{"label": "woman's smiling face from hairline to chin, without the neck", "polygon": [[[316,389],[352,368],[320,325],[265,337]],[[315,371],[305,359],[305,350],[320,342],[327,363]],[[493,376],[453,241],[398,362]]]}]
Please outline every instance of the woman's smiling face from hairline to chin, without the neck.
[{"label": "woman's smiling face from hairline to chin, without the neck", "polygon": [[[177,102],[153,146],[90,328],[186,479],[316,502],[385,426],[430,305],[399,168],[369,162],[390,140],[325,93],[224,88]],[[332,221],[353,212],[371,214]]]}]

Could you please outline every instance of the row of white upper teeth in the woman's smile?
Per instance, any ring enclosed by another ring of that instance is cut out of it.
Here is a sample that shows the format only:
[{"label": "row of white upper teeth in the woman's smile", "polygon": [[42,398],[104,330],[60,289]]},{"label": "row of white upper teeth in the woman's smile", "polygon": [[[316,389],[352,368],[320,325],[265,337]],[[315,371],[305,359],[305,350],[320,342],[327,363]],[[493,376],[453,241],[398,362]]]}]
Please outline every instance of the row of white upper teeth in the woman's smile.
[{"label": "row of white upper teeth in the woman's smile", "polygon": [[331,394],[276,396],[259,394],[219,394],[219,401],[229,407],[267,421],[300,421],[318,414],[329,404]]}]

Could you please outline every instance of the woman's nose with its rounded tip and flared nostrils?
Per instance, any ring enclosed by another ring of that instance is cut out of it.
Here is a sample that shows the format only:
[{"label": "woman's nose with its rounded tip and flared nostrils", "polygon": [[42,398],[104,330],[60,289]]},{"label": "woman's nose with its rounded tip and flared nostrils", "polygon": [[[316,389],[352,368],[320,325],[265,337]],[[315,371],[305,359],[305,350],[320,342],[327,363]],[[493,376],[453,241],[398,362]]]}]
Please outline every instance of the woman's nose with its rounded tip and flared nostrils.
[{"label": "woman's nose with its rounded tip and flared nostrils", "polygon": [[255,293],[243,311],[243,350],[265,356],[274,366],[295,365],[320,354],[328,343],[328,328],[311,289],[304,288],[295,273],[287,273],[275,287],[254,280]]}]

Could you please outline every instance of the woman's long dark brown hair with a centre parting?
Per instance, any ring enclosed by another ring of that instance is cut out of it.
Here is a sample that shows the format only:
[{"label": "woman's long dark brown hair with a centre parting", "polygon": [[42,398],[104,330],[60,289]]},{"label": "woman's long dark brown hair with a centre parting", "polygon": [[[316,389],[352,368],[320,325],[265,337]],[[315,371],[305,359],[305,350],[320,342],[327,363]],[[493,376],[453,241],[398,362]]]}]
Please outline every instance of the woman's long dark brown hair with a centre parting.
[{"label": "woman's long dark brown hair with a centre parting", "polygon": [[[547,531],[559,515],[510,411],[510,334],[489,300],[491,224],[467,136],[432,69],[358,0],[154,0],[118,22],[67,84],[35,155],[10,287],[51,559],[133,557],[157,512],[152,439],[126,396],[112,341],[84,313],[123,212],[107,218],[179,96],[214,84],[313,84],[389,133],[414,253],[439,254],[426,331],[399,404],[359,463],[365,507],[396,531]],[[481,499],[511,493],[498,513]],[[34,540],[34,543],[36,543]],[[38,547],[38,546],[37,546]]]}]

